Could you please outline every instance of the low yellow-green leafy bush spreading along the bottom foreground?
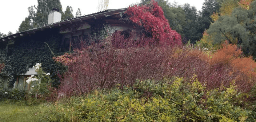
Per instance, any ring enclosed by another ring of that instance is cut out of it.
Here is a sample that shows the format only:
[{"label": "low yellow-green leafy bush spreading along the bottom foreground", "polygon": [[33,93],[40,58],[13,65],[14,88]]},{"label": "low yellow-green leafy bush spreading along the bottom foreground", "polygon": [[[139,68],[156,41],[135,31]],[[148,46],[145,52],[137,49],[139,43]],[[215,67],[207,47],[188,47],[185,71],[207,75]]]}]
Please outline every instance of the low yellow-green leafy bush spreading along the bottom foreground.
[{"label": "low yellow-green leafy bush spreading along the bottom foreground", "polygon": [[45,121],[242,122],[250,114],[249,110],[233,104],[237,96],[233,84],[225,91],[205,91],[195,76],[189,80],[176,77],[155,82],[145,80],[133,88],[96,90],[86,97],[71,97],[72,106],[56,103],[56,111]]}]

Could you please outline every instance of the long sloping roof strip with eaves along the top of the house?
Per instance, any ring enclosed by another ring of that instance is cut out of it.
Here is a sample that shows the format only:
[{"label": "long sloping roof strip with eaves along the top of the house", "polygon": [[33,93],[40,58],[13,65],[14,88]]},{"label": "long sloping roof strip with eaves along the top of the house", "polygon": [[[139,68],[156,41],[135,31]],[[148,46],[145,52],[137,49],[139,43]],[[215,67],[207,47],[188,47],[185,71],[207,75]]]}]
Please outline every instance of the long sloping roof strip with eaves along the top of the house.
[{"label": "long sloping roof strip with eaves along the top of the house", "polygon": [[108,10],[105,10],[105,11],[92,13],[92,14],[89,14],[89,15],[74,17],[72,19],[67,19],[67,20],[62,20],[62,21],[59,21],[57,23],[43,25],[41,27],[33,28],[33,29],[30,29],[30,30],[27,30],[27,31],[12,34],[10,36],[2,37],[2,38],[0,38],[0,42],[1,41],[7,41],[7,40],[10,40],[12,38],[17,38],[17,37],[20,37],[20,36],[24,36],[25,34],[35,33],[37,31],[42,31],[42,30],[46,30],[46,29],[60,27],[61,25],[70,24],[70,23],[77,22],[77,21],[84,21],[84,20],[89,20],[89,19],[92,19],[92,18],[98,19],[98,18],[101,18],[101,17],[113,16],[113,15],[116,15],[116,14],[120,14],[120,12],[123,13],[126,10],[127,10],[127,8],[108,9]]}]

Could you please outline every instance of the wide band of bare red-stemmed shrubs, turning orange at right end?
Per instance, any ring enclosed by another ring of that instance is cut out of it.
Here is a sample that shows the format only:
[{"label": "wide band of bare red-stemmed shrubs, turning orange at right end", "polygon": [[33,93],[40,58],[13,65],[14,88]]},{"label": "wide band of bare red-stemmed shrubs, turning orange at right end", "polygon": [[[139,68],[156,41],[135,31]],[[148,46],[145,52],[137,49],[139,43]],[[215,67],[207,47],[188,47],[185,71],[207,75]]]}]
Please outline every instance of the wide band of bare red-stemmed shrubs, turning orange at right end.
[{"label": "wide band of bare red-stemmed shrubs, turning orange at right end", "polygon": [[147,45],[149,39],[134,41],[133,34],[130,35],[124,39],[117,32],[100,43],[82,46],[73,54],[55,57],[55,61],[68,66],[59,93],[71,96],[99,88],[123,89],[137,80],[160,82],[173,76],[191,82],[189,79],[194,75],[207,89],[228,88],[235,81],[239,91],[248,92],[255,84],[256,63],[251,57],[241,56],[235,45],[226,44],[216,53],[206,54],[185,46],[152,47]]}]

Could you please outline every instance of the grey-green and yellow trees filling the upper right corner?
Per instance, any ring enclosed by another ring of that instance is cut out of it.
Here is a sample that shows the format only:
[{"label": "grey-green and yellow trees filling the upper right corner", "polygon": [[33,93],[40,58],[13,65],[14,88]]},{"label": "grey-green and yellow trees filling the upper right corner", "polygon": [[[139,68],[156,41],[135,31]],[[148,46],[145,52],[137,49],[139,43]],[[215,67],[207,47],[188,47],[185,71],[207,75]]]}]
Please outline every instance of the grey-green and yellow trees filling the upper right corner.
[{"label": "grey-green and yellow trees filling the upper right corner", "polygon": [[241,2],[243,0],[223,1],[221,8],[227,9],[220,11],[216,21],[204,34],[203,38],[206,40],[199,42],[211,43],[213,48],[219,48],[227,40],[230,44],[239,45],[246,56],[251,55],[256,60],[256,1],[248,2],[246,6],[239,5]]}]

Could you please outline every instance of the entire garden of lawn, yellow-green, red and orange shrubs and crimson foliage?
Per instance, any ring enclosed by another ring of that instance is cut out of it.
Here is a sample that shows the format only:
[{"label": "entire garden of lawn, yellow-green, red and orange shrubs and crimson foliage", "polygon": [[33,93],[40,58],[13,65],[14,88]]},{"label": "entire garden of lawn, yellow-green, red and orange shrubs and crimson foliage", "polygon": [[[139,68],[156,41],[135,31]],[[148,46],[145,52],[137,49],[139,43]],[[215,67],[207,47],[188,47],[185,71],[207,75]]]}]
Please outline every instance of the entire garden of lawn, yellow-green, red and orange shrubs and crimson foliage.
[{"label": "entire garden of lawn, yellow-green, red and orange shrubs and crimson foliage", "polygon": [[[144,11],[144,12],[143,12]],[[8,122],[255,122],[256,62],[236,44],[182,44],[161,7],[129,7],[145,33],[80,41],[53,57],[65,70],[53,87],[37,62],[31,89],[0,89]],[[0,64],[1,69],[5,65]]]}]

